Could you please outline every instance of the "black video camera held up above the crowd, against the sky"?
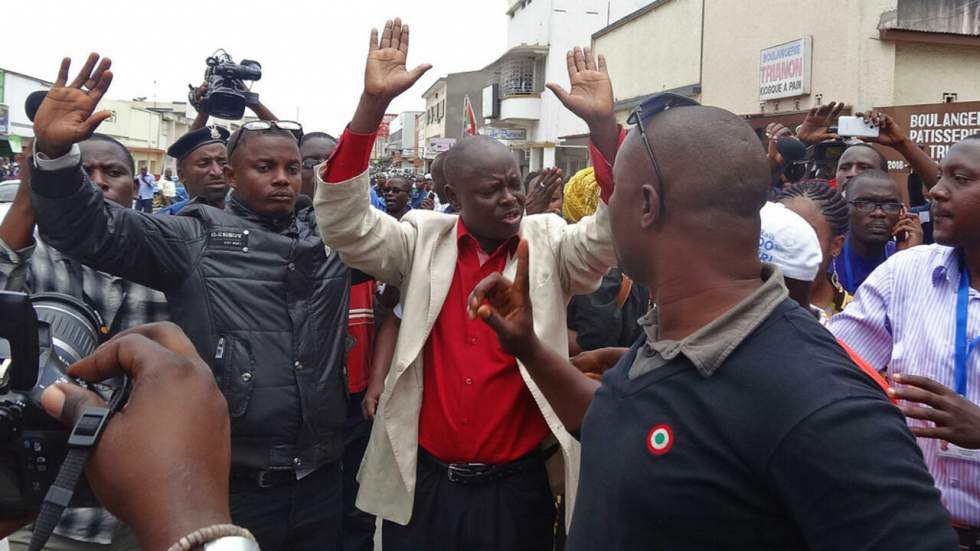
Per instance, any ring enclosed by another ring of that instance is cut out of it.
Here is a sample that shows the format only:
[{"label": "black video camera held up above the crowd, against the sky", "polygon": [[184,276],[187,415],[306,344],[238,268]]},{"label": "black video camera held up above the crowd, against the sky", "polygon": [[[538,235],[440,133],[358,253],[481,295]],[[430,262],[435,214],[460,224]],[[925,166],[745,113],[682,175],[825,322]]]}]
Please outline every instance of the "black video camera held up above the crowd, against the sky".
[{"label": "black video camera held up above the crowd, against the sky", "polygon": [[218,50],[206,62],[208,68],[204,71],[204,81],[207,83],[207,90],[198,103],[191,87],[188,96],[191,105],[196,109],[204,107],[210,115],[219,119],[241,119],[245,114],[245,107],[259,101],[259,95],[250,92],[245,81],[261,79],[262,66],[251,59],[235,63],[224,50]]}]

